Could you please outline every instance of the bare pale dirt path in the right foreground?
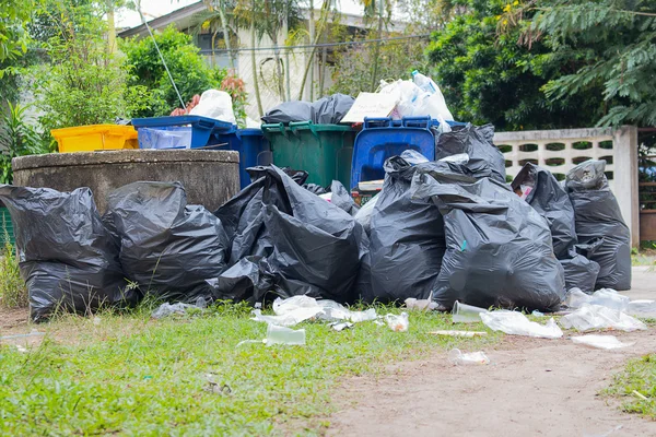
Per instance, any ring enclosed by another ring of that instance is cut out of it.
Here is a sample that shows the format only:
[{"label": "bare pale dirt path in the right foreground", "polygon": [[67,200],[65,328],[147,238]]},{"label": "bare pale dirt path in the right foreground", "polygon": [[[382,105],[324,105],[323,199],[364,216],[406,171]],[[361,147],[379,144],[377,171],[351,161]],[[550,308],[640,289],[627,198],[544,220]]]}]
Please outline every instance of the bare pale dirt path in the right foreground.
[{"label": "bare pale dirt path in the right foreground", "polygon": [[[636,268],[632,299],[656,298],[656,273]],[[403,362],[336,390],[329,436],[656,436],[656,422],[599,395],[631,358],[656,351],[656,330],[609,332],[635,345],[588,349],[569,339],[506,336],[488,366],[453,366],[446,353]],[[473,352],[473,351],[466,351]]]}]

